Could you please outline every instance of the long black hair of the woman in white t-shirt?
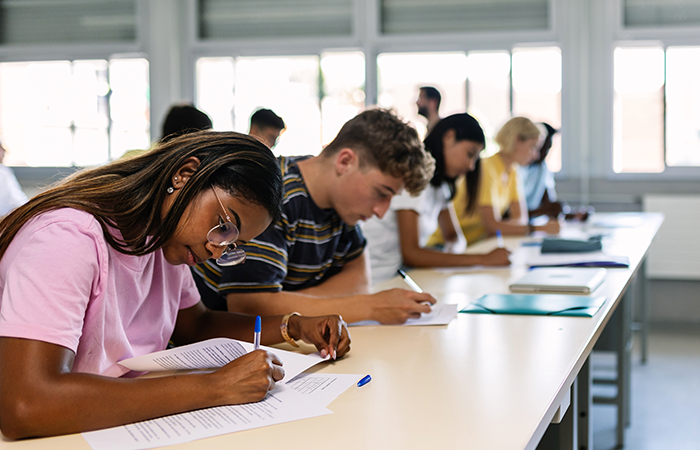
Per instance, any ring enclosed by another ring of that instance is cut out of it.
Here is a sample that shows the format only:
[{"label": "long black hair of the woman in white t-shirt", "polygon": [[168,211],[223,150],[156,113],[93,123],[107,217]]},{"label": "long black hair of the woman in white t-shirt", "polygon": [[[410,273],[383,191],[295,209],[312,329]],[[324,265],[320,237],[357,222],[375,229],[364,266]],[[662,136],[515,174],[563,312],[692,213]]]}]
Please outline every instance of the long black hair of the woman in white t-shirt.
[{"label": "long black hair of the woman in white t-shirt", "polygon": [[[467,113],[453,114],[445,117],[435,125],[435,128],[426,136],[423,143],[425,148],[435,158],[435,173],[430,180],[430,184],[439,187],[446,183],[450,189],[450,199],[455,195],[456,178],[449,178],[445,174],[445,155],[442,148],[442,138],[449,130],[454,130],[456,141],[473,141],[481,145],[486,145],[484,130],[479,122]],[[467,173],[467,213],[474,211],[476,207],[477,190],[479,187],[479,174],[481,172],[481,162],[476,161],[474,170]]]}]

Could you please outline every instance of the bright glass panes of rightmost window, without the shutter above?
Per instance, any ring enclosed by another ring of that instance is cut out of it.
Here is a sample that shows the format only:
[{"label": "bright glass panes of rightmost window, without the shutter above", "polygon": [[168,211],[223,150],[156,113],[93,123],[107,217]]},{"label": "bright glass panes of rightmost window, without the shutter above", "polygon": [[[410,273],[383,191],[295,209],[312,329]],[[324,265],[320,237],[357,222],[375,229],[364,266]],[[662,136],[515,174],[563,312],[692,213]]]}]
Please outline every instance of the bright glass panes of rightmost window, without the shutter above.
[{"label": "bright glass panes of rightmost window, without the shutter above", "polygon": [[615,49],[613,170],[700,166],[700,48]]}]

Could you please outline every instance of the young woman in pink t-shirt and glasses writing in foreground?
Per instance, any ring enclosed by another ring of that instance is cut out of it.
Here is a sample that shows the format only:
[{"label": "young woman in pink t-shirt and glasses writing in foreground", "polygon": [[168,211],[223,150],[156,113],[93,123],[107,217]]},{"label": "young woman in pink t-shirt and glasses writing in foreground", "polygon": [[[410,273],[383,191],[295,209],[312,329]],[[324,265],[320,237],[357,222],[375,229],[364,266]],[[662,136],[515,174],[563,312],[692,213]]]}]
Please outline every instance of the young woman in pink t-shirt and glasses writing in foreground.
[{"label": "young woman in pink t-shirt and glasses writing in foreground", "polygon": [[[2,433],[75,433],[264,398],[284,372],[263,350],[204,375],[134,379],[117,362],[169,339],[252,339],[254,317],[208,310],[185,265],[242,262],[237,243],[278,216],[281,192],[265,145],[197,132],[78,172],[4,218]],[[334,358],[350,348],[339,316],[263,318],[263,344],[285,339]]]}]

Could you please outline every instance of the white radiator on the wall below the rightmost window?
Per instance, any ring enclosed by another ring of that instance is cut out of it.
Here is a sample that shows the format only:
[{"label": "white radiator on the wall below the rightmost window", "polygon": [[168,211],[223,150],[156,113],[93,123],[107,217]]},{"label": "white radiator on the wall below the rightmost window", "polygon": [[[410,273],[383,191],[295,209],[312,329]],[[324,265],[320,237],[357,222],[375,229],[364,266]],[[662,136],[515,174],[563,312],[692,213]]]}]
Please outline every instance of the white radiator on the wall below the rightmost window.
[{"label": "white radiator on the wall below the rightmost window", "polygon": [[646,195],[644,211],[665,215],[649,249],[647,277],[700,280],[700,196]]}]

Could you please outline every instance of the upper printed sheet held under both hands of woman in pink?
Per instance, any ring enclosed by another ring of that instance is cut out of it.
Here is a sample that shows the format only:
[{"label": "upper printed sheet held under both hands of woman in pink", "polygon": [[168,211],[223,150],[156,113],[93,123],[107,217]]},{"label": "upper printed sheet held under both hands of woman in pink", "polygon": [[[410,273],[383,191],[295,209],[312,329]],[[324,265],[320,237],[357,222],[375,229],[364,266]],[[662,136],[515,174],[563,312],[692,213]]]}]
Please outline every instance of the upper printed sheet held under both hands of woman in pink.
[{"label": "upper printed sheet held under both hands of woman in pink", "polygon": [[[284,378],[291,380],[301,372],[321,361],[319,353],[303,355],[276,348],[261,346],[261,349],[274,353],[284,366]],[[139,372],[181,369],[211,369],[222,367],[239,356],[253,351],[253,344],[235,339],[215,338],[196,342],[182,347],[149,353],[148,355],[119,361],[127,369]]]}]

